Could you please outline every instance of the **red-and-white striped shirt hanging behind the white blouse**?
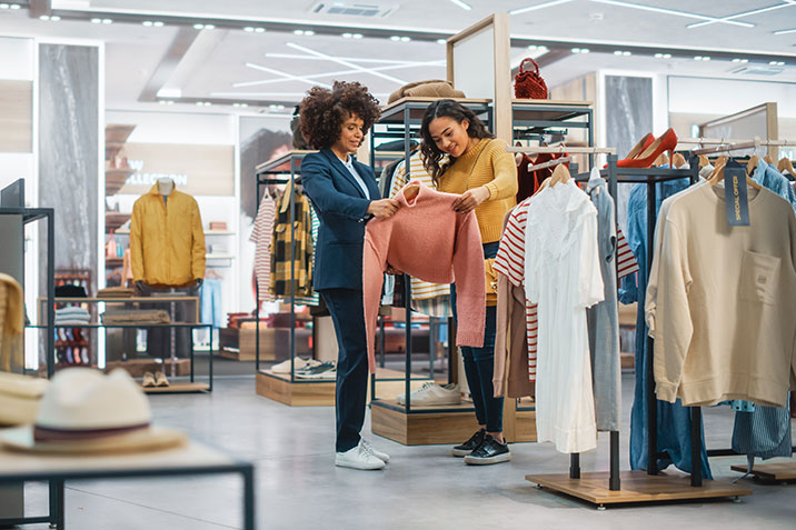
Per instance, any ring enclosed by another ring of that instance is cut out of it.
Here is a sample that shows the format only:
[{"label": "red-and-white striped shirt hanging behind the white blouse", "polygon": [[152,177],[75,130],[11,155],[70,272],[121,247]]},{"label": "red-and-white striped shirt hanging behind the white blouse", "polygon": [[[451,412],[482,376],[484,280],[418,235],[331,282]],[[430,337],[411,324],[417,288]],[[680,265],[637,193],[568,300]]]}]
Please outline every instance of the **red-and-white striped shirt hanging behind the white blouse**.
[{"label": "red-and-white striped shirt hanging behind the white blouse", "polygon": [[[511,210],[506,230],[500,238],[500,248],[492,268],[504,274],[516,287],[525,282],[525,239],[528,224],[528,203],[530,198]],[[638,262],[630,252],[625,234],[617,229],[617,277],[623,278],[638,270]],[[538,338],[537,306],[525,300],[526,332],[528,339],[528,379],[536,381],[536,347]]]}]

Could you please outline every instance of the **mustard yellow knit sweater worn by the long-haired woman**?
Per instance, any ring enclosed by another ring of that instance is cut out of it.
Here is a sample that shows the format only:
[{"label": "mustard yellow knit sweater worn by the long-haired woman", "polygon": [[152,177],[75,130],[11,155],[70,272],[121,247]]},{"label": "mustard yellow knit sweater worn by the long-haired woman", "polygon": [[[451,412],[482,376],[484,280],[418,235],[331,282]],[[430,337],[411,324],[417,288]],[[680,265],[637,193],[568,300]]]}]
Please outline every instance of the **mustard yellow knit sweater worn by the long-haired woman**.
[{"label": "mustard yellow knit sweater worn by the long-haired woman", "polygon": [[500,239],[503,219],[517,196],[517,166],[503,140],[481,139],[442,173],[438,190],[461,194],[481,186],[489,199],[476,208],[476,218],[481,242],[490,243]]}]

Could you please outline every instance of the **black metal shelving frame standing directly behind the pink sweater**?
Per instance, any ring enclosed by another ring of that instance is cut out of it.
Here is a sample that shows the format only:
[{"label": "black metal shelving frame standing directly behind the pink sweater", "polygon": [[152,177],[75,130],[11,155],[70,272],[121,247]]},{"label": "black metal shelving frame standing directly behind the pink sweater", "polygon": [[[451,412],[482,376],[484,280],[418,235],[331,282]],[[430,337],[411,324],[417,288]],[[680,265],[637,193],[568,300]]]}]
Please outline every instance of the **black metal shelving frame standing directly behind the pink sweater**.
[{"label": "black metal shelving frame standing directly behind the pink sweater", "polygon": [[[376,166],[376,159],[397,159],[401,156],[404,157],[404,160],[409,160],[411,157],[411,139],[412,139],[412,132],[419,130],[419,126],[422,122],[422,114],[425,113],[426,109],[428,108],[429,103],[431,103],[432,100],[428,101],[404,101],[396,106],[392,106],[387,109],[381,114],[381,118],[377,123],[374,123],[374,127],[370,129],[370,166],[375,168]],[[490,103],[484,101],[471,101],[468,102],[466,100],[460,100],[459,103],[461,103],[465,107],[470,108],[477,116],[485,116],[486,119],[485,124],[487,126],[487,129],[492,129],[492,121],[494,121],[494,112]],[[377,127],[379,126],[387,126],[386,131],[378,131]],[[415,126],[415,127],[412,127]],[[390,130],[392,129],[392,130]],[[404,152],[379,152],[376,150],[376,138],[398,138],[404,140]],[[411,179],[411,168],[410,164],[406,164],[406,180],[407,182]],[[469,409],[449,409],[449,408],[435,408],[435,409],[425,409],[425,410],[412,410],[411,409],[411,354],[412,354],[412,347],[411,347],[411,280],[410,277],[405,274],[404,276],[404,299],[406,300],[406,363],[405,363],[405,377],[404,378],[377,378],[375,373],[370,376],[370,394],[371,394],[371,403],[377,402],[376,399],[376,383],[379,381],[386,382],[386,381],[404,381],[404,407],[396,407],[389,403],[380,402],[380,406],[384,406],[389,409],[399,410],[407,414],[410,413],[430,413],[430,412],[449,412],[451,410],[456,412],[464,412],[468,410],[475,410],[472,408]],[[448,332],[450,337],[450,330],[452,329],[450,326],[450,321],[452,319],[448,319]],[[432,333],[429,330],[430,338],[432,339]],[[380,341],[381,343],[381,352],[380,354],[384,356],[384,337]],[[429,344],[430,346],[430,344]],[[451,380],[452,378],[452,370],[454,370],[454,363],[452,359],[455,359],[454,352],[456,351],[456,347],[452,344],[452,341],[450,338],[448,339],[448,379]],[[429,357],[430,364],[431,364],[431,377],[434,377],[434,348],[429,348]]]}]

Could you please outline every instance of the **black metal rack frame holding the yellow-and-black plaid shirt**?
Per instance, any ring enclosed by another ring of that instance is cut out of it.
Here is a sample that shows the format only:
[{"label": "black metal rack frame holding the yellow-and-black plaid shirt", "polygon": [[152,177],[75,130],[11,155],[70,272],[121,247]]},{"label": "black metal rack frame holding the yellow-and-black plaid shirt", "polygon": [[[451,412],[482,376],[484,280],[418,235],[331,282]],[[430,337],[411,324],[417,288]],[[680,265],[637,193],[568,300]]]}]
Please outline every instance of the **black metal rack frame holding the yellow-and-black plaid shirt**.
[{"label": "black metal rack frame holding the yellow-and-black plaid shirt", "polygon": [[[293,186],[300,183],[300,166],[301,160],[315,151],[307,150],[295,150],[289,153],[279,157],[269,162],[262,163],[257,167],[255,178],[257,179],[257,204],[259,206],[262,198],[261,190],[271,184],[290,184],[290,383],[320,383],[329,382],[328,380],[302,380],[296,378],[296,278],[295,267],[292,263],[296,261],[296,226],[293,209]],[[287,170],[286,170],[287,166]],[[286,177],[287,176],[287,177]],[[256,282],[257,283],[257,282]],[[255,370],[256,373],[260,373],[260,289],[257,286],[256,289],[256,303],[255,309]],[[312,333],[315,334],[315,328]],[[312,343],[315,348],[315,342]]]}]

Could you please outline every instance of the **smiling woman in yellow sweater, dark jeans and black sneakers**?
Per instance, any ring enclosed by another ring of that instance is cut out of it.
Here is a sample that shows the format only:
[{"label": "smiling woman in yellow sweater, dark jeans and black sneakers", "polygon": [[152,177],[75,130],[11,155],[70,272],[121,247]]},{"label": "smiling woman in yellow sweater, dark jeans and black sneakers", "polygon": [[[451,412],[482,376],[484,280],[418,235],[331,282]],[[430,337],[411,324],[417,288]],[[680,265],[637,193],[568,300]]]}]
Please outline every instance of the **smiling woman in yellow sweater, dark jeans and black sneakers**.
[{"label": "smiling woman in yellow sweater, dark jeans and black sneakers", "polygon": [[[515,206],[517,166],[514,157],[506,152],[506,143],[496,140],[470,109],[449,99],[435,101],[426,109],[420,134],[426,169],[437,189],[459,194],[454,209],[464,213],[476,211],[487,259],[485,269],[490,268],[497,254],[504,217]],[[441,166],[446,154],[450,156],[450,163]],[[455,297],[456,286],[451,286],[454,317]],[[492,387],[496,311],[494,297],[487,296],[484,347],[461,348],[480,430],[456,446],[454,456],[465,457],[465,462],[471,464],[511,459],[503,438],[503,398],[495,398]]]}]

